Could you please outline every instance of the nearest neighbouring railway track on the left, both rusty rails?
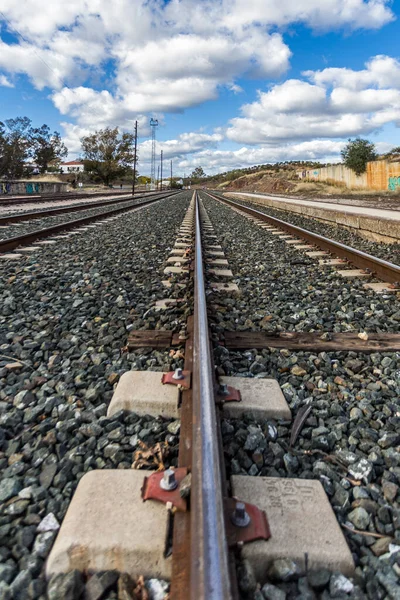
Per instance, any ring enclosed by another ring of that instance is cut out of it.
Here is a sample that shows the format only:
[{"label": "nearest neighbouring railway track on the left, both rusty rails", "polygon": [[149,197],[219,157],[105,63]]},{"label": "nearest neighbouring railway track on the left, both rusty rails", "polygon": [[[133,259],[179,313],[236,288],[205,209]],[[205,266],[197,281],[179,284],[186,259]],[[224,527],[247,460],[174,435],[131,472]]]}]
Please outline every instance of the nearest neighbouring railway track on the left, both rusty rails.
[{"label": "nearest neighbouring railway track on the left, both rusty rails", "polygon": [[[137,202],[138,199],[135,198],[135,200],[132,201],[128,201],[126,203],[123,203],[123,206],[119,207],[119,208],[111,208],[109,210],[104,210],[102,212],[95,212],[94,214],[91,214],[89,216],[80,218],[80,219],[73,219],[70,221],[65,221],[62,222],[60,224],[57,225],[51,225],[49,227],[43,227],[42,229],[35,229],[33,231],[30,231],[28,233],[24,233],[22,235],[17,235],[17,236],[12,236],[6,239],[2,239],[0,240],[0,253],[6,253],[6,252],[10,252],[12,250],[15,250],[16,248],[19,248],[20,246],[23,245],[29,245],[32,244],[38,240],[42,240],[48,237],[51,237],[57,233],[61,233],[61,232],[66,232],[66,231],[71,231],[73,229],[77,229],[79,227],[83,227],[84,225],[88,225],[94,221],[98,221],[99,219],[104,219],[104,218],[109,218],[109,217],[113,217],[113,216],[117,216],[121,213],[130,211],[130,210],[135,210],[135,208],[141,208],[144,206],[148,206],[150,204],[152,204],[153,202],[157,202],[158,200],[162,199],[162,198],[168,198],[169,196],[174,195],[174,192],[168,192],[168,193],[164,193],[164,194],[160,194],[157,195],[154,198],[151,198],[150,200],[144,200],[143,202]],[[123,201],[122,201],[123,202]],[[101,206],[111,206],[114,204],[120,204],[121,201],[111,201],[111,202],[107,202],[107,203],[101,203]],[[20,222],[20,221],[26,221],[31,220],[31,218],[33,219],[37,219],[37,218],[45,218],[48,217],[50,215],[58,215],[58,214],[65,214],[65,213],[69,213],[69,212],[75,212],[76,210],[96,210],[98,208],[98,206],[85,206],[85,207],[73,207],[71,210],[67,210],[67,209],[58,209],[57,211],[44,211],[43,213],[40,214],[40,216],[38,217],[38,213],[33,213],[32,215],[24,215],[24,219],[20,219],[19,215],[18,216],[11,216],[11,217],[6,217],[7,220],[7,224],[10,223],[16,223],[16,222]],[[15,220],[17,219],[17,220]]]}]

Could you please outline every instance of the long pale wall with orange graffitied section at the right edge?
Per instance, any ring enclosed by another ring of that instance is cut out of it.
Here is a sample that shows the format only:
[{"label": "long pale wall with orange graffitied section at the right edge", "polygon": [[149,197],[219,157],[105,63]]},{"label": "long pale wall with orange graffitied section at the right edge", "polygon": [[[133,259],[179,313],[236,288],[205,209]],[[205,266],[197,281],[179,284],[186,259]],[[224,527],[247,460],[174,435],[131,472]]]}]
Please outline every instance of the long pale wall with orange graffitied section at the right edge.
[{"label": "long pale wall with orange graffitied section at the right edge", "polygon": [[400,191],[400,162],[376,160],[367,163],[367,171],[357,176],[344,165],[298,171],[301,179],[341,183],[349,189]]}]

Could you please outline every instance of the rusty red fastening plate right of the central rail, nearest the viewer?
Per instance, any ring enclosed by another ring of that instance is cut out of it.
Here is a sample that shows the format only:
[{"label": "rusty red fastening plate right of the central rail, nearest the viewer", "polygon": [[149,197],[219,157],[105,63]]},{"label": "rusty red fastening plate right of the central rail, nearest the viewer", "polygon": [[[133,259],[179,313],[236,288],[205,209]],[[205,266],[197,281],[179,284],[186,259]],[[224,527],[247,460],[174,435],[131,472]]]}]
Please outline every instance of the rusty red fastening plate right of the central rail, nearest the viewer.
[{"label": "rusty red fastening plate right of the central rail, nearest the viewer", "polygon": [[226,515],[226,530],[229,548],[255,542],[256,540],[269,540],[271,530],[267,515],[263,510],[260,510],[255,504],[241,502],[249,516],[249,524],[245,527],[238,527],[232,522],[232,516],[235,513],[236,505],[239,501],[237,498],[225,498],[225,515]]}]

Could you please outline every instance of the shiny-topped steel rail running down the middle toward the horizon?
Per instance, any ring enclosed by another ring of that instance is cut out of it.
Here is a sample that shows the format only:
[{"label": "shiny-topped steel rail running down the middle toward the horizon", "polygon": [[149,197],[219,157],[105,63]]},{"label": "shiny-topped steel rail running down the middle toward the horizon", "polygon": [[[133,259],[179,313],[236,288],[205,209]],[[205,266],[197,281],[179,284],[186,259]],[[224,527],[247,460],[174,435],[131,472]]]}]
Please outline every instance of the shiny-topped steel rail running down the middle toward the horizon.
[{"label": "shiny-topped steel rail running down the middle toward the horizon", "polygon": [[229,600],[232,588],[197,192],[194,277],[190,598]]}]

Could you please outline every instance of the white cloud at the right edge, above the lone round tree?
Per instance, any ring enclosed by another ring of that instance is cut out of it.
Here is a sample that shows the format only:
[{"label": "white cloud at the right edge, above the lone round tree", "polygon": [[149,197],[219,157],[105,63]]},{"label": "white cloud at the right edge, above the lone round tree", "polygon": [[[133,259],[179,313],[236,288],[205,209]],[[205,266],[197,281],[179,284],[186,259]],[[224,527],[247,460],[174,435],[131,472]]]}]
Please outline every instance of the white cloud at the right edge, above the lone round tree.
[{"label": "white cloud at the right edge, above the lone round tree", "polygon": [[[362,71],[307,71],[312,81],[285,81],[242,106],[227,137],[245,144],[275,144],[367,135],[382,125],[400,125],[400,78],[388,76],[391,57],[374,57]],[[397,64],[399,73],[400,65]]]}]

